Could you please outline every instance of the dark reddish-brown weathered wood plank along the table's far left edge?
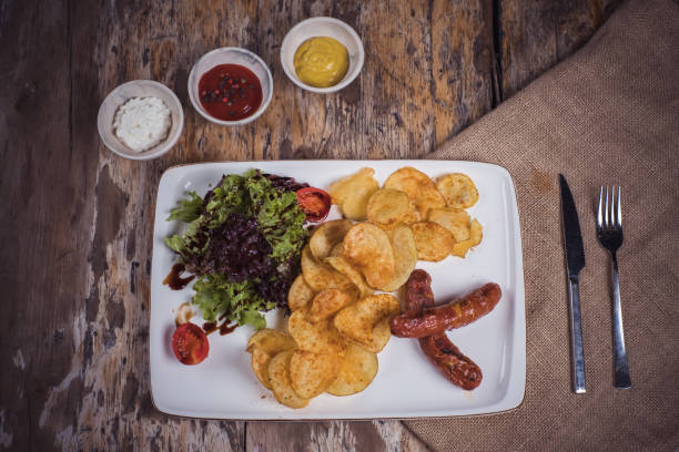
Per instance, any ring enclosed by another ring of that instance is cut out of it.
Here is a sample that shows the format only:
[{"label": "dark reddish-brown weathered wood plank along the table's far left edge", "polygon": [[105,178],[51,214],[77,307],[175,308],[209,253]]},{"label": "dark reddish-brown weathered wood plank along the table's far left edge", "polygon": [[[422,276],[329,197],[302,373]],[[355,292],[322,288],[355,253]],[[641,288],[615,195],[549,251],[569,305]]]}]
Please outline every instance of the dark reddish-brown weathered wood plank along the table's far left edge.
[{"label": "dark reddish-brown weathered wood plank along the table's far left edge", "polygon": [[[93,203],[82,194],[92,192],[97,152],[71,154],[67,2],[4,1],[0,35],[0,445],[49,450],[80,405],[82,383],[63,378],[89,249],[71,238],[89,242]],[[42,405],[60,384],[71,397],[43,430]]]}]

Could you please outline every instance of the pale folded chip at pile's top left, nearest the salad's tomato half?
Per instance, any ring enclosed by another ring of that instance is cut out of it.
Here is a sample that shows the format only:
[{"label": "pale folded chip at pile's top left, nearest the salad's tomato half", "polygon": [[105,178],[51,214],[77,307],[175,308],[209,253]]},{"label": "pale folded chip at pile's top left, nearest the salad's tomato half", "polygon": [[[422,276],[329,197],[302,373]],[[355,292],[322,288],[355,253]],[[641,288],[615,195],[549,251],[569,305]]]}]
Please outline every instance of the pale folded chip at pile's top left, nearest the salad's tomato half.
[{"label": "pale folded chip at pile's top left, nearest the salad's tomato half", "polygon": [[344,177],[330,187],[333,204],[340,205],[346,218],[365,219],[367,202],[379,184],[373,177],[373,168],[361,168],[355,174]]}]

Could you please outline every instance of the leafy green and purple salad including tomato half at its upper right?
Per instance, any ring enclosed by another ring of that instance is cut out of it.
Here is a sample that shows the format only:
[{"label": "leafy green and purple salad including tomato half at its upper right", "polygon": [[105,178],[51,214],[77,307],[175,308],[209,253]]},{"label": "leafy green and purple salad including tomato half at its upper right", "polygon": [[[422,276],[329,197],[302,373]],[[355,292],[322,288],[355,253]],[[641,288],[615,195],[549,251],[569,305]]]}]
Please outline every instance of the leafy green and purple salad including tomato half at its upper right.
[{"label": "leafy green and purple salad including tomato half at its upper right", "polygon": [[168,218],[188,228],[165,244],[197,277],[193,304],[207,322],[225,319],[264,328],[264,311],[287,308],[308,238],[304,224],[325,218],[330,196],[257,170],[224,175],[204,197],[188,196]]}]

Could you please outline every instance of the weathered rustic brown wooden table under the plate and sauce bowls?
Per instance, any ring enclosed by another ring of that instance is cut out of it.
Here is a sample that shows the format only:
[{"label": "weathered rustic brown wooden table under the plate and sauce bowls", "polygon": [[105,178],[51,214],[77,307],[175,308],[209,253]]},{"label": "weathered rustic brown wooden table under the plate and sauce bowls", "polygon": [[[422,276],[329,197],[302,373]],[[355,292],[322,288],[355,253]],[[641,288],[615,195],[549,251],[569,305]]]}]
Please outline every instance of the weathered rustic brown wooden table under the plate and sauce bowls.
[{"label": "weathered rustic brown wooden table under the plate and sauce bowls", "polygon": [[[422,450],[398,421],[220,422],[169,418],[149,392],[149,279],[159,178],[179,163],[417,158],[586,41],[611,0],[0,2],[0,449]],[[312,16],[363,39],[359,78],[314,95],[278,61]],[[271,66],[253,124],[192,109],[186,79],[237,45]],[[153,79],[184,105],[179,145],[151,162],[100,142],[100,102]],[[397,394],[395,394],[397,397]]]}]

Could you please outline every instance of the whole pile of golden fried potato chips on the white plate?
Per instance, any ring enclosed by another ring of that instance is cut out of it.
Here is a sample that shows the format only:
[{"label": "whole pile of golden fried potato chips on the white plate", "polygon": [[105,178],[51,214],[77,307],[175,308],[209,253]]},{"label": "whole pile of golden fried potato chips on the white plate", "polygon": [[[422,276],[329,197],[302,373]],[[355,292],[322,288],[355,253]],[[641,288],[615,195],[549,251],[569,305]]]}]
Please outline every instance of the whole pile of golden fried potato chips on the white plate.
[{"label": "whole pile of golden fried potato chips on the white plate", "polygon": [[379,188],[373,175],[362,168],[331,186],[345,218],[317,227],[302,251],[302,275],[287,297],[288,332],[261,330],[247,343],[255,376],[287,407],[306,407],[323,392],[363,391],[401,311],[396,298],[375,290],[396,291],[418,259],[465,257],[480,243],[480,224],[464,210],[478,199],[468,176],[435,183],[403,167]]}]

